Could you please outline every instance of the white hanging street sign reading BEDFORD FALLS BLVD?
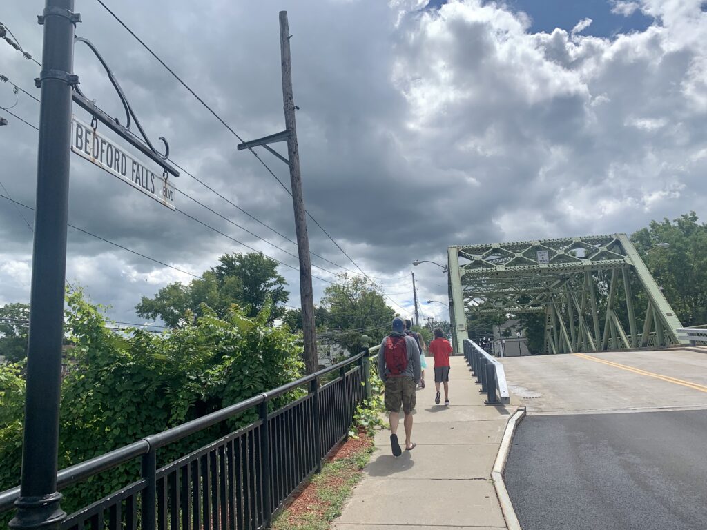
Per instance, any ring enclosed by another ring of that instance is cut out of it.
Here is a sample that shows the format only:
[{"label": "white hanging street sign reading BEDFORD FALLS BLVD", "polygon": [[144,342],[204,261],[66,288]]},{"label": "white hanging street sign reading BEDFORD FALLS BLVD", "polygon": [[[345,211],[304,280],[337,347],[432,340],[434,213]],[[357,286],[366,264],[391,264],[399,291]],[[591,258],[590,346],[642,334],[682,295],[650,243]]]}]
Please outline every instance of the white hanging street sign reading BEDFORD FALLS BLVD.
[{"label": "white hanging street sign reading BEDFORD FALLS BLVD", "polygon": [[175,187],[92,127],[71,117],[71,151],[174,210]]}]

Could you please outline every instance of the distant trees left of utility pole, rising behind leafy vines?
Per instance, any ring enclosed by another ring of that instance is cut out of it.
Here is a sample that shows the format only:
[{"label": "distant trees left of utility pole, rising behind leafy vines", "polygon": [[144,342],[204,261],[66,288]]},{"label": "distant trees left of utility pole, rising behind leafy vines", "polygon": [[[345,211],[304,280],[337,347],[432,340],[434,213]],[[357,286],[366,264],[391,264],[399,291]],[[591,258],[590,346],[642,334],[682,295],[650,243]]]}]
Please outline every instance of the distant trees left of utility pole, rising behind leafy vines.
[{"label": "distant trees left of utility pole, rising behind leafy vines", "polygon": [[[172,328],[182,322],[193,324],[201,316],[202,304],[225,316],[231,305],[243,307],[247,317],[255,317],[270,300],[269,324],[285,314],[284,307],[290,293],[285,278],[277,272],[278,262],[258,252],[223,254],[218,265],[192,280],[188,285],[170,283],[161,288],[154,298],[143,297],[135,310],[141,317],[156,319]],[[185,316],[191,315],[188,319]]]}]

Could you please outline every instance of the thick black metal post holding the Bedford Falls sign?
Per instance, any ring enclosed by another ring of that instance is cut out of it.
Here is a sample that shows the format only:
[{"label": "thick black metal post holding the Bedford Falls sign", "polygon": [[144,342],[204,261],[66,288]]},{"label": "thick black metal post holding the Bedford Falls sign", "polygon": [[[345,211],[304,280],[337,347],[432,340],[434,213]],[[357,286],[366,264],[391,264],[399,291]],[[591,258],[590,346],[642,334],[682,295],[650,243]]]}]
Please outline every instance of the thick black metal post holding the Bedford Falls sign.
[{"label": "thick black metal post holding the Bedford Falls sign", "polygon": [[57,492],[62,384],[66,220],[69,209],[74,0],[47,0],[42,22],[42,88],[30,331],[20,497],[13,529],[59,529]]}]

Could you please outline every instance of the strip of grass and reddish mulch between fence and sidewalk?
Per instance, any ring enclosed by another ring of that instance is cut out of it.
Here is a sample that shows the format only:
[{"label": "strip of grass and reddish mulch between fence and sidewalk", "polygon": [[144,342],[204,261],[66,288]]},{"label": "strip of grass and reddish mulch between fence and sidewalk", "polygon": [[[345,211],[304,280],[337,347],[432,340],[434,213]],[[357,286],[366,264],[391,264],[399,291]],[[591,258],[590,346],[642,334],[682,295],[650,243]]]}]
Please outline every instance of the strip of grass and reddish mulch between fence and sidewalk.
[{"label": "strip of grass and reddish mulch between fence and sidewalk", "polygon": [[274,530],[328,530],[341,515],[344,502],[361,480],[361,470],[373,452],[373,438],[361,435],[345,442],[300,490],[272,524]]}]

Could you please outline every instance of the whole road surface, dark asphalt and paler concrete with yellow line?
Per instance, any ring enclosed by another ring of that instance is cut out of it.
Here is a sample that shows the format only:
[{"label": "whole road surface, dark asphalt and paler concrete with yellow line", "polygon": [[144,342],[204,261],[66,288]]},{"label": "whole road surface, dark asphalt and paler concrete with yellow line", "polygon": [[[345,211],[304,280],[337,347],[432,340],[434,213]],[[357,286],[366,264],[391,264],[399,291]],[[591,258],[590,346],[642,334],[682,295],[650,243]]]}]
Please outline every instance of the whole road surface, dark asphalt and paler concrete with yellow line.
[{"label": "whole road surface, dark asphalt and paler concrete with yellow line", "polygon": [[528,410],[505,473],[523,530],[707,528],[707,353],[503,364]]}]

